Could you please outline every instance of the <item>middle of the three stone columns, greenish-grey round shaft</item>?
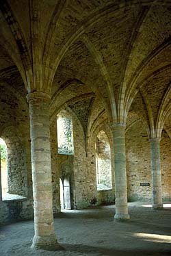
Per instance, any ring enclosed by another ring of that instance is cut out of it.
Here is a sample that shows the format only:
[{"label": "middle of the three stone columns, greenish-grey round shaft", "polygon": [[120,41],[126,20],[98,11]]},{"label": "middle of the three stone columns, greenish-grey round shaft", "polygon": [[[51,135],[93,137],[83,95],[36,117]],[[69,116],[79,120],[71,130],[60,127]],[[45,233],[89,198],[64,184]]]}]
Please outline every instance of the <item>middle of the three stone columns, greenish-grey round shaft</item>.
[{"label": "middle of the three stone columns, greenish-grey round shaft", "polygon": [[127,203],[127,170],[125,153],[125,125],[116,123],[112,125],[114,137],[114,173],[116,193],[116,220],[128,220]]}]

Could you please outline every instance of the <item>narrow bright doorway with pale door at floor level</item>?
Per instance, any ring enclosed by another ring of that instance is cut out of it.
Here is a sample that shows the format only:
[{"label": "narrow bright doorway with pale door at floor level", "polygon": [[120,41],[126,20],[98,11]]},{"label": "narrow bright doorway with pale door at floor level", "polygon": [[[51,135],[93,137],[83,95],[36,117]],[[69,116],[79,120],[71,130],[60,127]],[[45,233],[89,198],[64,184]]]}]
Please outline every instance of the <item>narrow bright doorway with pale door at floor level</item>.
[{"label": "narrow bright doorway with pale door at floor level", "polygon": [[61,209],[71,209],[69,177],[60,179],[60,205]]}]

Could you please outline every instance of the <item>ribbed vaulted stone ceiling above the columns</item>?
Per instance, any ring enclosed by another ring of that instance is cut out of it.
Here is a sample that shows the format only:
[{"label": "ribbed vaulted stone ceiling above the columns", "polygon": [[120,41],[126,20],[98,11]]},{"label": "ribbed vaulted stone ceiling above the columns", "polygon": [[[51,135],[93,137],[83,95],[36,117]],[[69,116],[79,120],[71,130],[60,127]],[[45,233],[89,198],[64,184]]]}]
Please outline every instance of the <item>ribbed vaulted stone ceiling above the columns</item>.
[{"label": "ribbed vaulted stone ceiling above the columns", "polygon": [[151,137],[163,125],[171,133],[170,0],[2,0],[0,9],[3,83],[50,93],[51,115],[70,107],[85,133],[106,114],[142,118]]}]

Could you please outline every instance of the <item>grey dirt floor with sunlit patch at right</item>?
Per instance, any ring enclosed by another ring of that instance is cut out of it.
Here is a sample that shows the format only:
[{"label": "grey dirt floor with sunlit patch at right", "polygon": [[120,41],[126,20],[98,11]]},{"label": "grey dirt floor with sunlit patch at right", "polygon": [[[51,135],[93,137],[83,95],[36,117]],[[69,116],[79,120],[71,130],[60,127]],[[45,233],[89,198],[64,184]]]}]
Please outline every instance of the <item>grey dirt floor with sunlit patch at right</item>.
[{"label": "grey dirt floor with sunlit patch at right", "polygon": [[33,221],[1,227],[0,255],[171,255],[171,205],[156,211],[145,204],[129,203],[126,222],[114,221],[114,205],[60,213],[55,232],[64,251],[31,249]]}]

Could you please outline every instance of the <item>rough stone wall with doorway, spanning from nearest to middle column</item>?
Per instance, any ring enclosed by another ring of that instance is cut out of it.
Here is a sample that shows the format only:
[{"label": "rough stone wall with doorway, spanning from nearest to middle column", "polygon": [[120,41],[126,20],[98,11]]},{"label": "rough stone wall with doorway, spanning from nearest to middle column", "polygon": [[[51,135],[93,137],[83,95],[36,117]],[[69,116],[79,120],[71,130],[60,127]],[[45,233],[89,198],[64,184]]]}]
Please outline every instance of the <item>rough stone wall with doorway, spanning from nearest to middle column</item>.
[{"label": "rough stone wall with doorway, spanning from nearest to middle column", "polygon": [[[67,114],[73,120],[74,154],[57,154],[56,118],[51,119],[51,159],[53,174],[53,210],[60,212],[60,178],[70,177],[71,208],[81,209],[90,205],[114,202],[114,167],[112,166],[112,188],[98,191],[96,186],[96,135],[86,151],[83,127],[77,116],[70,111]],[[108,131],[109,133],[109,131]],[[111,138],[110,138],[111,139]],[[110,159],[111,161],[111,159]],[[67,172],[67,173],[66,173]]]}]

